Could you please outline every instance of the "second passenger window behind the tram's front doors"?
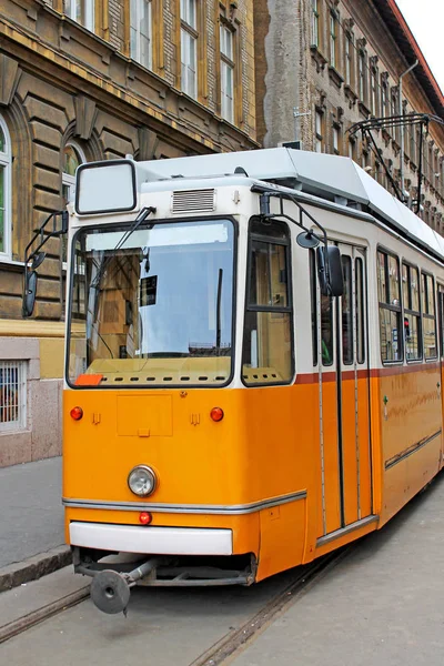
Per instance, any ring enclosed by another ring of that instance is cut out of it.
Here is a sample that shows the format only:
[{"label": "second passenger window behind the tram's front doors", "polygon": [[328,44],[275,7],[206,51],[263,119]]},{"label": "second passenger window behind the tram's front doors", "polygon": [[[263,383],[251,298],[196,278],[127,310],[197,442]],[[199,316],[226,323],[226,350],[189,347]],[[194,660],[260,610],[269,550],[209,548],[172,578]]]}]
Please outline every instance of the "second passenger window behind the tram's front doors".
[{"label": "second passenger window behind the tram's front doors", "polygon": [[422,357],[418,270],[403,263],[404,339],[407,361]]}]

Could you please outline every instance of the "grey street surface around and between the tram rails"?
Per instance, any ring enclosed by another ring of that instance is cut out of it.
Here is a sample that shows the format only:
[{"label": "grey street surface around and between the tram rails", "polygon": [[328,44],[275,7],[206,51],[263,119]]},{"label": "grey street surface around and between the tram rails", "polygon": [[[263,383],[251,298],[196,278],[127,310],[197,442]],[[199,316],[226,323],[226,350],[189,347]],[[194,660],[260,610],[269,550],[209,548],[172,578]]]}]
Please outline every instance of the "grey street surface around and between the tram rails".
[{"label": "grey street surface around and between the tram rails", "polygon": [[[444,475],[364,538],[230,662],[234,666],[441,666]],[[0,645],[9,666],[196,666],[195,659],[285,588],[132,592],[128,618],[88,599]],[[0,594],[0,626],[88,581],[70,568]],[[199,664],[206,662],[198,662]]]}]

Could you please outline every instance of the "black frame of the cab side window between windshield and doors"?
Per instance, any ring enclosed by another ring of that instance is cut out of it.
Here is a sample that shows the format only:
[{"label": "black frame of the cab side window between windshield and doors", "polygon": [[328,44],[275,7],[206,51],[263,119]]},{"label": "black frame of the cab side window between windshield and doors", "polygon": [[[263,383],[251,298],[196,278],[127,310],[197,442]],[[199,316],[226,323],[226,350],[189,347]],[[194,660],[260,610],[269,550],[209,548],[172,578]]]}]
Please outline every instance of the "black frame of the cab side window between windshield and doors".
[{"label": "black frame of the cab side window between windshield and doors", "polygon": [[[242,347],[241,347],[241,382],[246,389],[255,389],[255,387],[264,387],[264,386],[291,386],[294,382],[295,376],[295,346],[294,346],[294,301],[293,301],[293,270],[292,270],[292,233],[290,225],[281,220],[278,220],[280,224],[286,226],[289,235],[284,239],[279,239],[275,236],[269,235],[260,235],[258,233],[252,233],[251,229],[253,223],[258,220],[258,215],[252,215],[249,220],[249,242],[248,242],[248,261],[246,261],[246,281],[245,281],[245,297],[244,297],[244,313],[243,313],[243,326],[242,326]],[[275,305],[254,305],[250,304],[250,293],[251,293],[251,268],[252,268],[252,259],[253,259],[253,241],[258,241],[260,243],[269,243],[273,245],[281,245],[285,248],[285,263],[286,263],[286,274],[287,274],[287,284],[286,284],[286,293],[287,293],[287,302],[286,306],[275,306]],[[243,377],[243,339],[245,334],[245,321],[248,312],[265,312],[265,313],[279,313],[279,314],[290,314],[290,345],[291,345],[291,354],[290,354],[290,379],[284,382],[254,382],[254,384],[248,384]]]}]

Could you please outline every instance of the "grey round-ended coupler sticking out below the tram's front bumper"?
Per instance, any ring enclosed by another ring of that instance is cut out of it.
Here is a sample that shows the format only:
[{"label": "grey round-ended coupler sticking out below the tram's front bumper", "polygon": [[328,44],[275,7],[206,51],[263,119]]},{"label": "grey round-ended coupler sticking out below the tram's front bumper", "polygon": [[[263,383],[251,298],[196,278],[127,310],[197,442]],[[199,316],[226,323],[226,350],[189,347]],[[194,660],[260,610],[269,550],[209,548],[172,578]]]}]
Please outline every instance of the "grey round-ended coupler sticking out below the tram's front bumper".
[{"label": "grey round-ended coupler sticking out below the tram's front bumper", "polygon": [[150,558],[128,574],[120,574],[113,569],[103,569],[95,573],[90,588],[94,605],[103,613],[110,615],[123,613],[127,617],[131,587],[157,566],[158,559]]}]

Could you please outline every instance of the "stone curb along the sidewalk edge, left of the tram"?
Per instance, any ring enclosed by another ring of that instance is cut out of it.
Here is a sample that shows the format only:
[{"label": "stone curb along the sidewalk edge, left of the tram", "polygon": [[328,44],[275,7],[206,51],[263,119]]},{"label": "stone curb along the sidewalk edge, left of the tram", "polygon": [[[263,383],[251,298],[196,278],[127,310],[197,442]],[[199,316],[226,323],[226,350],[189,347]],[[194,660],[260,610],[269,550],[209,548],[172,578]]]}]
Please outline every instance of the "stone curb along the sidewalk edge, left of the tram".
[{"label": "stone curb along the sidewalk edge, left of the tram", "polygon": [[69,546],[59,546],[40,555],[34,555],[24,562],[16,562],[0,568],[0,593],[18,587],[23,583],[37,581],[41,576],[52,574],[72,562]]}]

